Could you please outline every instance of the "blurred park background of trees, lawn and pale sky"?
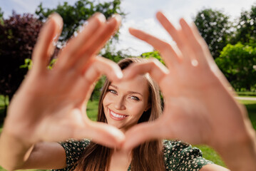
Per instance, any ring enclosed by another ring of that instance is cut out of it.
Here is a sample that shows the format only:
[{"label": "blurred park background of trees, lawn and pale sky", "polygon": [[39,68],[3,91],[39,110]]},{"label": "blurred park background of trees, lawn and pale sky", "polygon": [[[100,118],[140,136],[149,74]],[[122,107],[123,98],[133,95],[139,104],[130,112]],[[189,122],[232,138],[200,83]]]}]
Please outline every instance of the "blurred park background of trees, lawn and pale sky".
[{"label": "blurred park background of trees, lawn and pale sky", "polygon": [[[0,0],[0,133],[9,101],[32,67],[31,53],[40,28],[47,17],[57,12],[64,26],[48,69],[56,62],[59,49],[68,38],[76,36],[86,20],[96,11],[106,18],[123,16],[122,26],[101,51],[101,56],[118,62],[122,58],[141,56],[160,59],[151,46],[128,33],[133,26],[175,44],[155,19],[155,12],[164,11],[178,26],[183,17],[195,22],[208,43],[217,66],[237,92],[237,100],[247,107],[256,129],[256,1],[253,0]],[[88,103],[88,117],[96,120],[98,97],[105,78],[99,79]],[[33,86],[33,85],[31,85]],[[204,157],[218,165],[221,158],[210,147],[197,146]],[[4,170],[0,166],[0,171]]]}]

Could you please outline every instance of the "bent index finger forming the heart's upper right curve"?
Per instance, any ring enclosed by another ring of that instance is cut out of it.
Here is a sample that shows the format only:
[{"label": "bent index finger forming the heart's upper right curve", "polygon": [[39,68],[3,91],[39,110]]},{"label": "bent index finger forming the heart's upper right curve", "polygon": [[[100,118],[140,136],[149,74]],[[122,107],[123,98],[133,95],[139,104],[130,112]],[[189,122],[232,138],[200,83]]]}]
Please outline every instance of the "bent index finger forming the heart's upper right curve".
[{"label": "bent index finger forming the heart's upper right curve", "polygon": [[169,71],[162,63],[160,63],[160,61],[155,58],[151,58],[147,62],[133,63],[128,66],[128,68],[123,71],[123,79],[134,78],[138,74],[142,75],[145,73],[149,73],[161,88],[161,81]]}]

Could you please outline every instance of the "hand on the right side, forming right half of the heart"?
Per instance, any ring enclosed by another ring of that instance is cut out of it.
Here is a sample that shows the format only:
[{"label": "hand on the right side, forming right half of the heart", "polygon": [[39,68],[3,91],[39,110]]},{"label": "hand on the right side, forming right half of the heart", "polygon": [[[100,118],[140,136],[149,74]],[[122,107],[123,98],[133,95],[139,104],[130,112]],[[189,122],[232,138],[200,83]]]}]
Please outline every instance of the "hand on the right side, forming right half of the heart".
[{"label": "hand on the right side, forming right half of the heart", "polygon": [[123,147],[131,149],[146,140],[169,138],[207,144],[221,151],[235,146],[234,142],[248,140],[252,134],[247,130],[252,130],[252,126],[246,110],[233,98],[230,84],[195,25],[189,26],[180,19],[177,29],[161,12],[157,19],[177,48],[135,28],[130,28],[130,33],[157,49],[167,68],[157,60],[135,63],[124,71],[124,78],[150,73],[163,93],[163,115],[155,122],[128,130]]}]

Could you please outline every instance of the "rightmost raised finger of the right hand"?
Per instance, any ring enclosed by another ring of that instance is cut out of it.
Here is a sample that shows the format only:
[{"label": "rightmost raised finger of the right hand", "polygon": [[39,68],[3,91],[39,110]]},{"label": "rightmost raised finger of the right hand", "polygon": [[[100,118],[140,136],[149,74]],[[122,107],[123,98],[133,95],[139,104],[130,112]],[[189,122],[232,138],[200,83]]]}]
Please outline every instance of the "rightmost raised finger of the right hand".
[{"label": "rightmost raised finger of the right hand", "polygon": [[188,40],[188,46],[192,47],[195,59],[200,63],[200,65],[207,65],[205,58],[205,52],[203,49],[203,38],[196,35],[195,31],[188,25],[184,19],[180,19],[180,26],[183,28],[183,33]]}]

